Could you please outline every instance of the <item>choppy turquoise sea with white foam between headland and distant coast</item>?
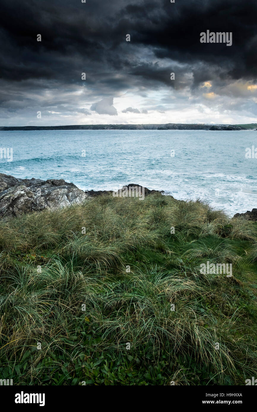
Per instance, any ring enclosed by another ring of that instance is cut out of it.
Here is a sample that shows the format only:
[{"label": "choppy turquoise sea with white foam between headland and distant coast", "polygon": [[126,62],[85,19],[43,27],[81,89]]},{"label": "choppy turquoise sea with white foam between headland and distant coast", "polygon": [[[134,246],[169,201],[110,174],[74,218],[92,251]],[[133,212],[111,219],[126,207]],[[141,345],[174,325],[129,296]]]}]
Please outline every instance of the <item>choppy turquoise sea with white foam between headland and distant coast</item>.
[{"label": "choppy turquoise sea with white foam between headland and distant coast", "polygon": [[257,208],[257,159],[245,158],[252,145],[256,131],[1,131],[13,160],[0,159],[0,172],[63,178],[83,190],[138,183],[233,215]]}]

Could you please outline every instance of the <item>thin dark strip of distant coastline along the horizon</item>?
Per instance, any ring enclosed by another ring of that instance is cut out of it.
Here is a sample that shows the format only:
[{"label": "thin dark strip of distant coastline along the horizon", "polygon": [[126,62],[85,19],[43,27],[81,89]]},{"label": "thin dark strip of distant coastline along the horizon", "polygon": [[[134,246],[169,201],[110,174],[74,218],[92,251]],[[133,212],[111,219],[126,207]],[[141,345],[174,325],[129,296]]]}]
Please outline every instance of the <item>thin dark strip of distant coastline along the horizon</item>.
[{"label": "thin dark strip of distant coastline along the horizon", "polygon": [[0,126],[0,131],[35,130],[256,130],[257,123],[251,124],[73,124],[69,126]]}]

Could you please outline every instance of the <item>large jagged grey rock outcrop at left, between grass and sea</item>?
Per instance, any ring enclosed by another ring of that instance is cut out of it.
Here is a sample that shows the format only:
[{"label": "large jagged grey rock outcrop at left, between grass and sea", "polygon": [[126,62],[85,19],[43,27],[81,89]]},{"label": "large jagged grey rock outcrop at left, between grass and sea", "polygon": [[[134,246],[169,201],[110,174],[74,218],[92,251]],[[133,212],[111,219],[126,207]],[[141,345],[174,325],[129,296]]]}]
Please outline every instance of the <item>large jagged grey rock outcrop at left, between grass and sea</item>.
[{"label": "large jagged grey rock outcrop at left, between grass and sea", "polygon": [[73,183],[60,179],[18,179],[0,173],[0,216],[81,204],[88,195]]}]

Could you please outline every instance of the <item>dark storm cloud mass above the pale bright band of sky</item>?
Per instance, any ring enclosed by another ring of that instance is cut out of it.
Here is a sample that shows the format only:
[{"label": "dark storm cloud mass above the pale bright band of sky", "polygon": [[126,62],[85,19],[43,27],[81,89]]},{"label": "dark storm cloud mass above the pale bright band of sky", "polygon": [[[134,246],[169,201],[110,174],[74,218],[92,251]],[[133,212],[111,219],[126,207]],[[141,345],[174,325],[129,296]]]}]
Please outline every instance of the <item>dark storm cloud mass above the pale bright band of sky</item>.
[{"label": "dark storm cloud mass above the pale bright band of sky", "polygon": [[[220,87],[257,78],[256,0],[1,3],[0,105],[7,111],[33,107],[35,100],[48,108],[61,105],[60,90],[82,86],[91,110],[116,115],[108,102],[129,89],[142,96],[145,88],[160,86],[198,94],[202,82],[212,80]],[[232,32],[232,46],[200,43],[200,32],[207,29]],[[46,91],[53,87],[54,101],[47,101]],[[101,103],[102,98],[107,100]],[[90,113],[79,107],[81,98],[76,110]]]}]

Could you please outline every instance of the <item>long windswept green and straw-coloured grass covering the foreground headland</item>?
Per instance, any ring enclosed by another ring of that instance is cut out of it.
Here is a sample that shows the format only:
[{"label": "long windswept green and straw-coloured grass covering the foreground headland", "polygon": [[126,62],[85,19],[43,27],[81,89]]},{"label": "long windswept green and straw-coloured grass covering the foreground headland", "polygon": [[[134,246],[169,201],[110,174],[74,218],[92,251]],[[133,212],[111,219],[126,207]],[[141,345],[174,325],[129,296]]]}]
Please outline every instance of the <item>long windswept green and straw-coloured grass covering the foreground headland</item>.
[{"label": "long windswept green and straw-coloured grass covering the foreground headland", "polygon": [[[254,222],[200,200],[106,196],[1,221],[0,250],[1,379],[245,385],[256,373]],[[207,260],[233,276],[201,274]]]}]

